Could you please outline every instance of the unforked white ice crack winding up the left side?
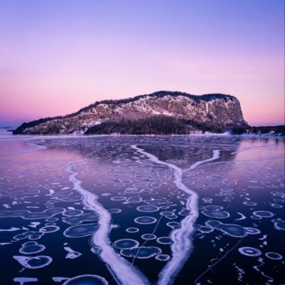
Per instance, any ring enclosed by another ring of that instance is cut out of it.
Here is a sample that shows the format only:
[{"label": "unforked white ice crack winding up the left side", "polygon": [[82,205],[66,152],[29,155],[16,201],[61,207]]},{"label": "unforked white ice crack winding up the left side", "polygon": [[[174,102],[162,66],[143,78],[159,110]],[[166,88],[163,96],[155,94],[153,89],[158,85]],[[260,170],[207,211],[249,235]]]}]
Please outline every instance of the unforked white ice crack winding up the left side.
[{"label": "unforked white ice crack winding up the left side", "polygon": [[109,239],[111,229],[110,213],[98,202],[97,195],[83,189],[81,186],[81,180],[76,178],[78,172],[73,171],[73,167],[83,165],[83,163],[84,162],[81,162],[79,164],[66,167],[66,172],[70,173],[68,180],[73,183],[73,189],[81,194],[83,205],[88,207],[88,209],[93,211],[95,214],[98,214],[98,229],[91,237],[91,244],[93,247],[99,249],[98,254],[100,258],[106,263],[110,273],[113,275],[118,284],[149,284],[147,278],[138,269],[131,266],[130,262],[123,257],[120,257],[120,255],[115,252],[115,249],[113,249]]}]

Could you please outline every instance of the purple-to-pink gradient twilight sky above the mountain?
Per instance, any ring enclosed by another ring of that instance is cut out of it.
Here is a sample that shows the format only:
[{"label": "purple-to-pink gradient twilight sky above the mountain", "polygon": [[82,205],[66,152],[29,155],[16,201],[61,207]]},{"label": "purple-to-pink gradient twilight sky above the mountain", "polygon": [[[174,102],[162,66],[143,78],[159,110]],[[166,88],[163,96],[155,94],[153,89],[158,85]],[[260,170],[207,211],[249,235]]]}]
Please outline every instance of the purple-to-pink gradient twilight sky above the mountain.
[{"label": "purple-to-pink gradient twilight sky above the mountain", "polygon": [[0,126],[158,90],[284,125],[284,0],[0,0]]}]

